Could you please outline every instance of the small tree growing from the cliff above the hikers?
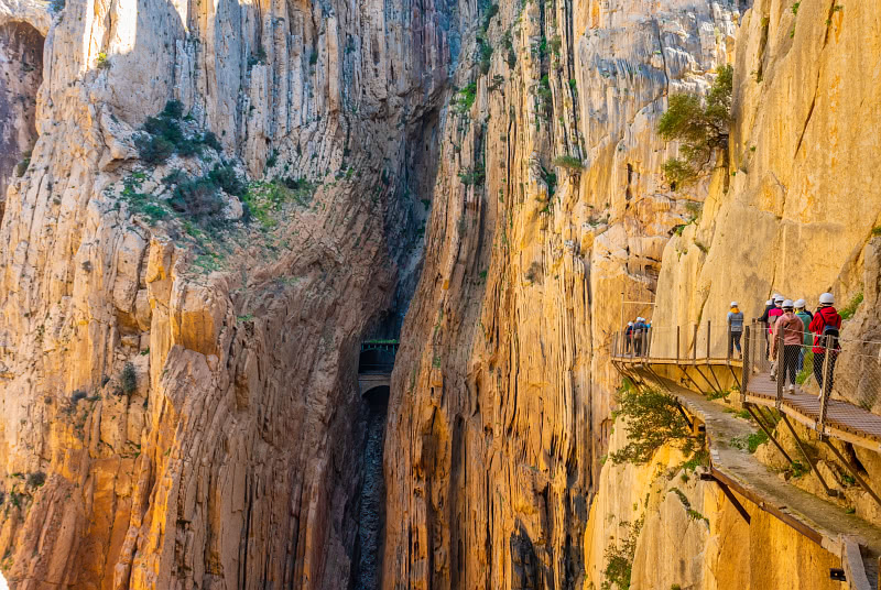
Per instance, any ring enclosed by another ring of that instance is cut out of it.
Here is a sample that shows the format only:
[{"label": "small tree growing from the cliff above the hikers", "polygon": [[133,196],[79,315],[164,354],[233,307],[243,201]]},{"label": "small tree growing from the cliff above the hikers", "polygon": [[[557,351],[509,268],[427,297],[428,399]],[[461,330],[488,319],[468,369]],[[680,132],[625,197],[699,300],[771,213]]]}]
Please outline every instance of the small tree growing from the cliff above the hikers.
[{"label": "small tree growing from the cliff above the hikers", "polygon": [[733,68],[720,66],[706,100],[689,94],[671,95],[667,111],[657,123],[665,141],[682,142],[679,157],[664,164],[664,176],[675,190],[708,173],[714,156],[728,153]]}]

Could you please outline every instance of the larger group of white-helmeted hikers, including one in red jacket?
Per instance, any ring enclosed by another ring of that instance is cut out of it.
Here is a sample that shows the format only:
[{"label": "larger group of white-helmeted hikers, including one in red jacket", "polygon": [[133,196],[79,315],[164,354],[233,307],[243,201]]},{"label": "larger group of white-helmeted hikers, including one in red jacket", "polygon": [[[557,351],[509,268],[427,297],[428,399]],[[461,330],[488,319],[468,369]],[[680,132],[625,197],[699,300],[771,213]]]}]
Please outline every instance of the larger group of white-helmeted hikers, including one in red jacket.
[{"label": "larger group of white-helmeted hikers, including one in red jacket", "polygon": [[[819,296],[819,306],[814,313],[807,309],[805,299],[793,302],[775,293],[765,302],[764,313],[755,319],[768,326],[763,331],[768,359],[772,361],[772,380],[782,379],[786,390],[793,392],[796,376],[804,370],[805,353],[811,348],[814,353],[814,379],[819,385],[819,395],[824,391],[831,391],[835,363],[841,351],[838,341],[841,316],[835,309],[835,297],[831,293]],[[742,357],[740,337],[743,334],[743,313],[738,308],[737,302],[731,302],[728,326],[728,350],[731,352],[733,347]],[[827,352],[828,383],[824,383]]]}]

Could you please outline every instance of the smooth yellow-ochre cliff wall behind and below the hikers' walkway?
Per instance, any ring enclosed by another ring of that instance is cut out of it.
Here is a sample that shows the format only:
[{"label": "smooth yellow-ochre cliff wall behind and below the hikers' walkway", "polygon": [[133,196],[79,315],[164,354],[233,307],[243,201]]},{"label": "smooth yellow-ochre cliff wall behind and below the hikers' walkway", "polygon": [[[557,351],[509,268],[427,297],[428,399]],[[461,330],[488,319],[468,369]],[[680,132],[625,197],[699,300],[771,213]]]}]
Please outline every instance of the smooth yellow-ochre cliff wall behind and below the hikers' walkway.
[{"label": "smooth yellow-ochre cliff wall behind and below the hikers' walkway", "polygon": [[[877,340],[881,270],[872,228],[879,225],[881,193],[877,171],[861,162],[881,154],[877,138],[864,132],[881,123],[878,109],[870,107],[881,103],[879,73],[839,64],[855,58],[878,63],[878,35],[874,11],[858,3],[803,2],[794,11],[791,2],[760,0],[744,12],[733,54],[730,163],[714,177],[699,220],[666,244],[654,326],[724,325],[731,299],[755,317],[772,292],[816,305],[820,293],[833,291],[841,305],[857,293],[866,299],[844,336]],[[724,339],[713,347],[715,353],[725,353]],[[837,394],[878,409],[877,390],[860,382],[858,367],[845,360],[836,376]],[[788,437],[784,442],[792,448]],[[856,452],[877,481],[877,455]],[[759,455],[781,467],[773,449]],[[656,460],[666,461],[667,455]],[[671,465],[676,462],[664,467]],[[700,483],[679,485],[708,518],[700,526],[670,493],[678,476],[650,481],[652,469],[603,468],[586,537],[595,587],[603,580],[601,553],[620,546],[627,531],[621,522],[641,515],[645,524],[637,540],[634,589],[828,584],[800,576],[837,567],[830,554],[766,515],[753,514],[747,529],[717,491]],[[817,493],[819,484],[806,480],[796,484]],[[640,504],[645,494],[648,503]],[[863,494],[853,493],[846,502],[877,522],[877,509]],[[781,547],[787,549],[770,549]],[[808,566],[796,567],[794,556]]]}]

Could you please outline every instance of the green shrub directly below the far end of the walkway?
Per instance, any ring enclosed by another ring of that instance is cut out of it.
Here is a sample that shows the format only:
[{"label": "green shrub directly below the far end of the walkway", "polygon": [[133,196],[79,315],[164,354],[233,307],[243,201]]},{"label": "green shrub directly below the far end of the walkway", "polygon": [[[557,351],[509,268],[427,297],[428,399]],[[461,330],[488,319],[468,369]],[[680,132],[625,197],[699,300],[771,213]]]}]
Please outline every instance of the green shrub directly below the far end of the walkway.
[{"label": "green shrub directly below the far end of the walkway", "polygon": [[686,454],[694,451],[696,439],[692,437],[674,396],[624,384],[618,391],[616,402],[618,408],[612,416],[626,418],[628,444],[609,454],[612,463],[646,463],[659,448],[667,444],[678,446]]}]

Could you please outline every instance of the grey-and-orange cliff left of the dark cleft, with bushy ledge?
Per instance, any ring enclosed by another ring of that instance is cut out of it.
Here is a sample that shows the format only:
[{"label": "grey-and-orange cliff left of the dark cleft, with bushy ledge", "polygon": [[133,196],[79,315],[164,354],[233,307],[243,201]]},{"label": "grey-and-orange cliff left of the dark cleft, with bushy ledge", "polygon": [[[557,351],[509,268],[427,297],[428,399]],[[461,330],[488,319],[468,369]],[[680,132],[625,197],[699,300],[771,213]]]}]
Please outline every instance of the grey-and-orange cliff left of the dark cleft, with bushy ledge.
[{"label": "grey-and-orange cliff left of the dark cleft, with bushy ledge", "polygon": [[[39,73],[46,35],[39,91],[29,74],[0,97],[6,178],[37,135],[0,228],[4,575],[346,588],[357,346],[412,275],[458,21],[444,2],[3,11],[2,75]],[[171,99],[191,151],[151,164],[138,130]],[[264,196],[250,222],[213,170]],[[199,197],[215,225],[187,217]]]}]

